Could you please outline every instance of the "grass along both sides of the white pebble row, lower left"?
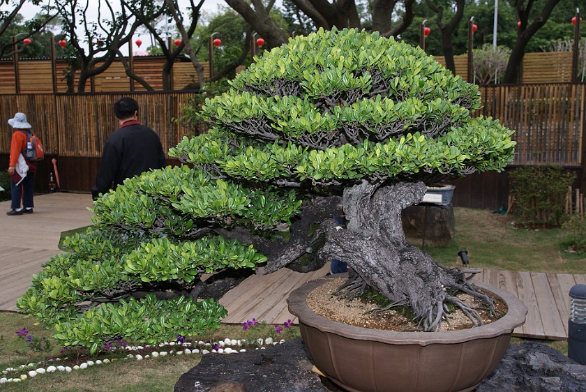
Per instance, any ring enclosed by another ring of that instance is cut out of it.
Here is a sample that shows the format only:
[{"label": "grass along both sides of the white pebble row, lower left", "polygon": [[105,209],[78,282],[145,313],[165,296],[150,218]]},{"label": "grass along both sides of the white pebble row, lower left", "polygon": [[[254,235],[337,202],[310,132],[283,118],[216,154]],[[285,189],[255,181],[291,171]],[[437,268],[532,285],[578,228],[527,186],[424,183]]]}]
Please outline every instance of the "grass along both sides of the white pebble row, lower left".
[{"label": "grass along both sides of the white pebble row, lower left", "polygon": [[[59,357],[61,347],[52,343],[48,351],[33,352],[26,339],[17,336],[16,331],[26,327],[35,338],[47,338],[52,342],[52,330],[34,326],[34,320],[25,318],[16,312],[0,312],[0,372],[8,367],[17,368],[21,364],[38,363],[49,357]],[[247,331],[241,325],[222,324],[218,331],[205,336],[194,337],[194,340],[218,342],[230,339],[255,340],[257,338],[283,337],[286,340],[299,337],[299,328],[285,329],[281,335],[274,333],[272,325],[260,323]],[[169,355],[157,359],[119,359],[112,363],[93,365],[84,370],[73,372],[54,372],[53,374],[37,375],[18,383],[0,385],[0,391],[37,392],[79,392],[79,391],[171,391],[183,373],[200,362],[202,354]],[[55,363],[58,365],[59,363]],[[22,372],[19,374],[25,374]],[[0,377],[4,377],[0,375]],[[15,376],[13,376],[15,377]],[[106,383],[106,384],[105,384]]]}]

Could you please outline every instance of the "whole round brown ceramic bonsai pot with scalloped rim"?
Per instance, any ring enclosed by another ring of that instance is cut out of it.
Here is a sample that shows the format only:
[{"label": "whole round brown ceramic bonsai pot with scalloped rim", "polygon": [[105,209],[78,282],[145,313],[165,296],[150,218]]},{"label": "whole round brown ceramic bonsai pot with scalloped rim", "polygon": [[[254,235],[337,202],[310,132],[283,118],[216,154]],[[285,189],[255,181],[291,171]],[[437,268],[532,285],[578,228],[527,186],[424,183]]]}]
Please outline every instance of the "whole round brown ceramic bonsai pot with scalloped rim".
[{"label": "whole round brown ceramic bonsai pot with scalloped rim", "polygon": [[476,328],[443,332],[365,329],[316,315],[306,298],[324,279],[294,290],[289,311],[299,317],[301,336],[316,367],[348,391],[472,391],[495,370],[513,329],[527,308],[513,294],[483,282],[476,286],[501,299],[504,317]]}]

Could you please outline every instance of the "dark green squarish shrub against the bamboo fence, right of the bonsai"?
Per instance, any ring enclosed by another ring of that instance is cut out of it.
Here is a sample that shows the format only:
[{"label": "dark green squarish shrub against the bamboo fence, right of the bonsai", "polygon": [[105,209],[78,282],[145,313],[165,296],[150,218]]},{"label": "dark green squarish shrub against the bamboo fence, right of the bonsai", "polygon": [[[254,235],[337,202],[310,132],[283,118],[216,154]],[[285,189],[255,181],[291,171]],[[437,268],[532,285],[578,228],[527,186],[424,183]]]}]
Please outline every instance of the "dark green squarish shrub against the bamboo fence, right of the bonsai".
[{"label": "dark green squarish shrub against the bamboo fence, right of the bonsai", "polygon": [[509,174],[514,213],[524,225],[559,226],[564,220],[568,187],[574,174],[555,165],[520,167]]}]

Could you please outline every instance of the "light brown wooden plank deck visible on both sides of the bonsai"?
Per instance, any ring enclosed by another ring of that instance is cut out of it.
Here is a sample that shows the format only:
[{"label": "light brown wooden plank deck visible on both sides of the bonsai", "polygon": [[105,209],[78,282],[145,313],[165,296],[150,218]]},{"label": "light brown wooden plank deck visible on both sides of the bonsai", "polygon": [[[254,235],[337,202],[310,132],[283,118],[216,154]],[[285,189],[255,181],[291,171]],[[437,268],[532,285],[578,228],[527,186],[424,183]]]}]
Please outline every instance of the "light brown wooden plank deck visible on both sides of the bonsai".
[{"label": "light brown wooden plank deck visible on both sides of the bonsai", "polygon": [[[16,310],[16,299],[27,290],[31,277],[52,255],[61,232],[91,225],[92,206],[88,194],[53,193],[35,197],[32,215],[6,216],[10,202],[0,202],[0,310]],[[281,269],[266,276],[250,276],[220,299],[228,310],[225,323],[239,324],[247,319],[283,324],[297,319],[287,311],[289,293],[303,282],[325,276],[327,267],[312,273]],[[569,289],[586,284],[586,275],[529,273],[485,270],[477,280],[505,289],[527,305],[529,314],[516,336],[563,340],[568,336]]]}]

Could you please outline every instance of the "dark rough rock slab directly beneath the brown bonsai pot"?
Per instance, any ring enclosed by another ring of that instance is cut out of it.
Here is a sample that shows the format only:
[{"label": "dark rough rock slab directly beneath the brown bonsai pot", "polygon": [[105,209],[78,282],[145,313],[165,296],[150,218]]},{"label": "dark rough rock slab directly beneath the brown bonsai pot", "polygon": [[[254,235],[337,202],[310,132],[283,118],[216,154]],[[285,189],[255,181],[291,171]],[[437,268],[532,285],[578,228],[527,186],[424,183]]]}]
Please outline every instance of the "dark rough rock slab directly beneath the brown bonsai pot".
[{"label": "dark rough rock slab directly beneath the brown bonsai pot", "polygon": [[[301,340],[239,354],[206,354],[179,378],[175,392],[340,391],[312,368]],[[586,391],[586,366],[541,343],[510,345],[496,370],[476,389],[502,391]]]}]

